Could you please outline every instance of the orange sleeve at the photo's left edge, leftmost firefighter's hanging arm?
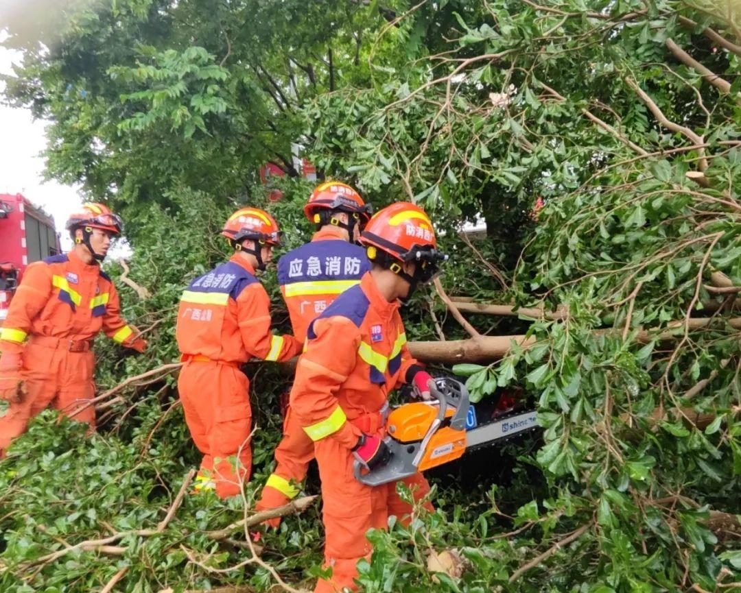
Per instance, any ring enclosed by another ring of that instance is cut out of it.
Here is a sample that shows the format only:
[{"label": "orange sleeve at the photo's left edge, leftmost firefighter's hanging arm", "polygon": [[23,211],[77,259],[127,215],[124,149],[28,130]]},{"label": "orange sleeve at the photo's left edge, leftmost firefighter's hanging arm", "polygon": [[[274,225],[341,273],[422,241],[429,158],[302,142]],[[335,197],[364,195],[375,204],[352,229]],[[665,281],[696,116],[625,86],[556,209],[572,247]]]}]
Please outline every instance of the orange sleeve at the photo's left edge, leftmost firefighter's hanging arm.
[{"label": "orange sleeve at the photo's left edge, leftmost firefighter's hanging arm", "polygon": [[0,330],[0,368],[21,366],[23,344],[31,330],[31,322],[49,301],[52,292],[52,272],[47,264],[31,264],[16,289],[7,318]]}]

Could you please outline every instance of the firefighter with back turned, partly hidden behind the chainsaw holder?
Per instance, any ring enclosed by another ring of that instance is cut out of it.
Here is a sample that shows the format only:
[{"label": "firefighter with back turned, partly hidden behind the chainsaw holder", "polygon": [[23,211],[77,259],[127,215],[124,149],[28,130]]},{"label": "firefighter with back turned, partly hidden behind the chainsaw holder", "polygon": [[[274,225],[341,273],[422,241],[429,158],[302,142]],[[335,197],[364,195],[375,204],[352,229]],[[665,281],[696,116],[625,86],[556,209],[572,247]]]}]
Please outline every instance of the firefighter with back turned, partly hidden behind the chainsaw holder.
[{"label": "firefighter with back turned, partly hidden behind the chainsaw holder", "polygon": [[[337,181],[323,183],[311,194],[304,213],[316,224],[316,232],[310,243],[293,249],[278,262],[278,281],[293,335],[302,344],[310,321],[371,269],[365,249],[357,244],[360,230],[371,218],[371,207],[356,190]],[[288,406],[283,438],[275,452],[276,469],[256,508],[274,509],[296,497],[313,457],[313,442]],[[268,523],[277,527],[280,518]]]}]

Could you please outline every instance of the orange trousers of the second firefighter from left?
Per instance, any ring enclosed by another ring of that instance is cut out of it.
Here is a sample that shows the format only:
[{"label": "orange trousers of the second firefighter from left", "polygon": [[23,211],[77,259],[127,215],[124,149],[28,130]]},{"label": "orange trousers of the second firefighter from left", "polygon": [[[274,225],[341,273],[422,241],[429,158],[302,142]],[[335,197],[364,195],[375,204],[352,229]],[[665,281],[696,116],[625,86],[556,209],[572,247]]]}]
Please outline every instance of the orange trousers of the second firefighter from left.
[{"label": "orange trousers of the second firefighter from left", "polygon": [[185,423],[203,453],[199,475],[222,498],[238,495],[250,479],[249,389],[244,373],[216,362],[185,363],[178,378]]}]

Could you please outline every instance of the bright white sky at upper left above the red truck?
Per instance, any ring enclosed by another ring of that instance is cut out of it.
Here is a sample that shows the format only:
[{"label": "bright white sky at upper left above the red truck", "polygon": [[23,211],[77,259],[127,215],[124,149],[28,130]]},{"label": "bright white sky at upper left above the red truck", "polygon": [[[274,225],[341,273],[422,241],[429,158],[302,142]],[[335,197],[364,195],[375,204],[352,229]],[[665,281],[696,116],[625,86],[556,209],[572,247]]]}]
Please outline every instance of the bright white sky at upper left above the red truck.
[{"label": "bright white sky at upper left above the red truck", "polygon": [[[0,30],[0,44],[5,36]],[[20,59],[18,53],[0,45],[0,73],[12,75],[12,64]],[[22,193],[33,204],[53,215],[56,229],[60,231],[64,229],[64,221],[70,212],[82,204],[82,198],[76,187],[56,181],[44,183],[44,158],[40,153],[46,146],[46,126],[45,121],[33,121],[29,110],[0,104],[0,193]],[[65,250],[70,247],[66,240],[62,233]]]}]

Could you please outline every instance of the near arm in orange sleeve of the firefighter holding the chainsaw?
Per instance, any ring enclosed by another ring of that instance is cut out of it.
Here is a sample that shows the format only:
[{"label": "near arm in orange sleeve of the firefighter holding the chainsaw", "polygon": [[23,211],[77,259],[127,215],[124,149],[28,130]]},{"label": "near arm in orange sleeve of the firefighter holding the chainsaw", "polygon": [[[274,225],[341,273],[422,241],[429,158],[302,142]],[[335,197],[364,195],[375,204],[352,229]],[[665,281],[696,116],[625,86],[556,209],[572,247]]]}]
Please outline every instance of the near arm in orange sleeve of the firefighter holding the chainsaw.
[{"label": "near arm in orange sleeve of the firefighter holding the chainsaw", "polygon": [[359,329],[348,318],[317,318],[296,365],[290,406],[311,440],[333,438],[348,449],[362,434],[348,422],[337,393],[357,363]]}]

